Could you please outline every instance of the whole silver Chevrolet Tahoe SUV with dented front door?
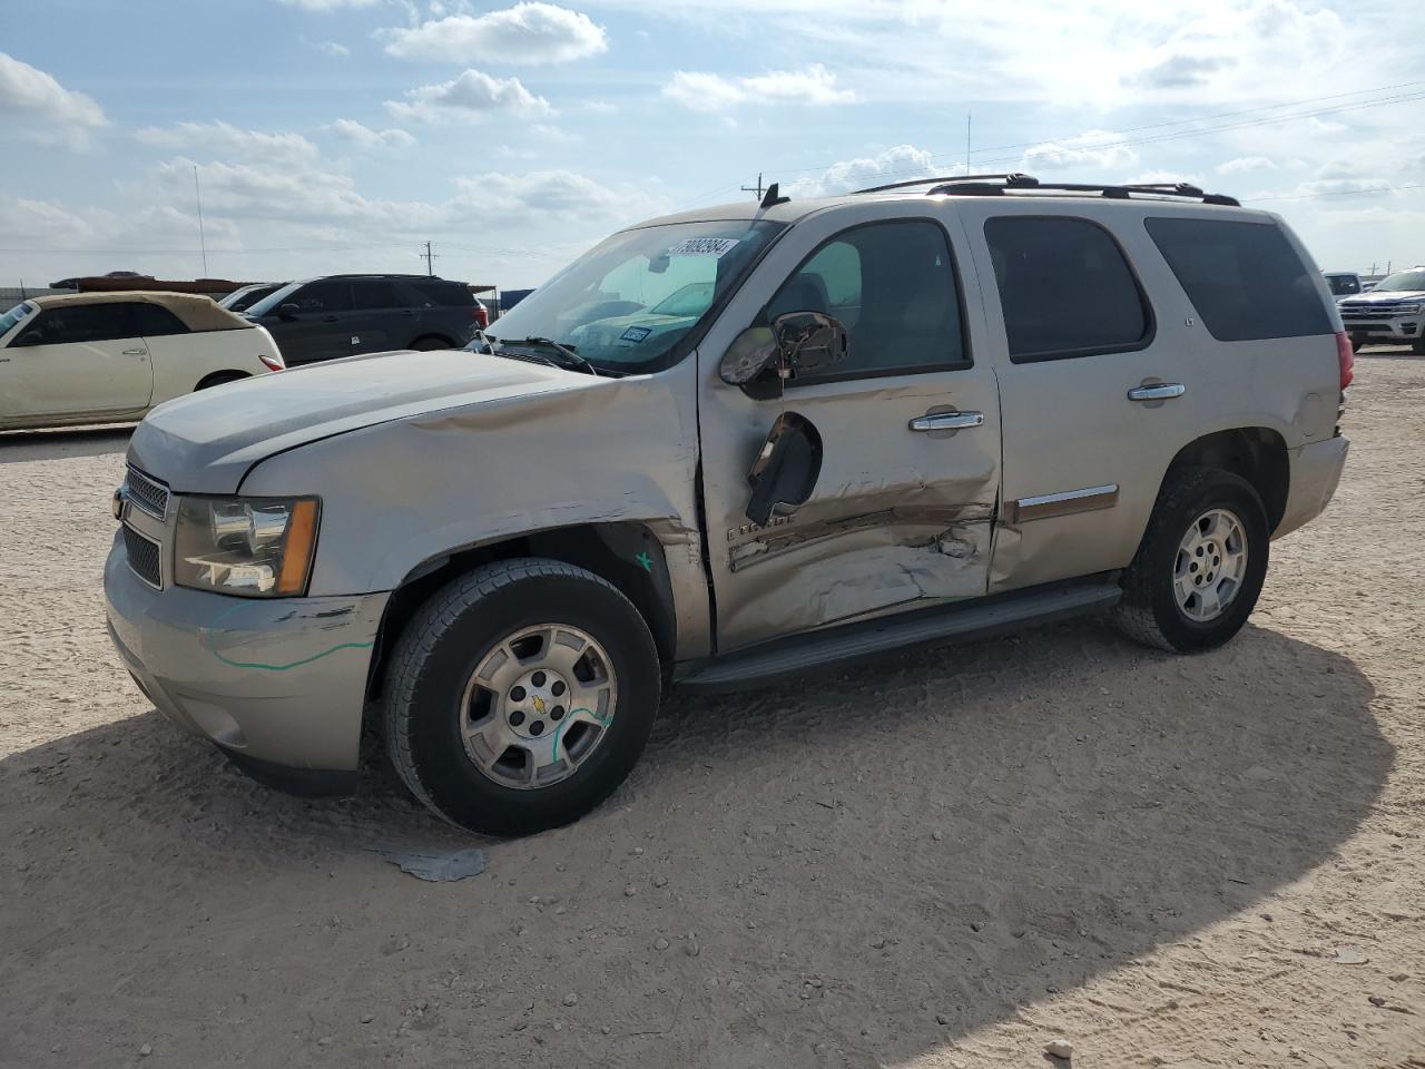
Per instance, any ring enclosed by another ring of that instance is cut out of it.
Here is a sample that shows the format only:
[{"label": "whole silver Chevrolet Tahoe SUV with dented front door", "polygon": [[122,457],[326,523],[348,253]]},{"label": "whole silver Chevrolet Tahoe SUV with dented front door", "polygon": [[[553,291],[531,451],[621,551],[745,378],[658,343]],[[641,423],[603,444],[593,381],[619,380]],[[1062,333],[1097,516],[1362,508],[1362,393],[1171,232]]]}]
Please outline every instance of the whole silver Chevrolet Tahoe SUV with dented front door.
[{"label": "whole silver Chevrolet Tahoe SUV with dented front door", "polygon": [[668,688],[1096,611],[1227,641],[1335,490],[1349,376],[1321,272],[1227,197],[772,190],[614,234],[467,349],[158,408],[110,633],[265,783],[351,790],[370,727],[446,820],[533,832]]}]

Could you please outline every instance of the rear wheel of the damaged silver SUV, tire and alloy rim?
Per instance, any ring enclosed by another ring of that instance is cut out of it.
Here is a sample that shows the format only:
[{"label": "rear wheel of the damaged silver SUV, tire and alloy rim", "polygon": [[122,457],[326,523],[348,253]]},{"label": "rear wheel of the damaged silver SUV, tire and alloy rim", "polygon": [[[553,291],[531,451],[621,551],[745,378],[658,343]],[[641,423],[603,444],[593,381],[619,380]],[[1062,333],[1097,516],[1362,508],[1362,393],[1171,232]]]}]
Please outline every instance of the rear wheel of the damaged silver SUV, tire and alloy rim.
[{"label": "rear wheel of the damaged silver SUV, tire and alloy rim", "polygon": [[1116,623],[1171,653],[1211,650],[1257,604],[1271,552],[1261,496],[1238,475],[1186,468],[1170,475],[1133,563]]}]

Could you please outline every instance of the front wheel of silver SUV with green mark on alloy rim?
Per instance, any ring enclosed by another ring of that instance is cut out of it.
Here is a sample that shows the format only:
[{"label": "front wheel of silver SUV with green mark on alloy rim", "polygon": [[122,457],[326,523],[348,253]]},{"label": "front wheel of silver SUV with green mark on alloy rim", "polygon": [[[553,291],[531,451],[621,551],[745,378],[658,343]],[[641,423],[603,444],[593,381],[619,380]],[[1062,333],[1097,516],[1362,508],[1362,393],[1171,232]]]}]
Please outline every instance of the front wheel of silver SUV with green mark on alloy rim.
[{"label": "front wheel of silver SUV with green mark on alloy rim", "polygon": [[616,587],[557,560],[475,569],[428,600],[392,653],[388,751],[452,824],[569,824],[633,768],[658,711],[658,651]]}]

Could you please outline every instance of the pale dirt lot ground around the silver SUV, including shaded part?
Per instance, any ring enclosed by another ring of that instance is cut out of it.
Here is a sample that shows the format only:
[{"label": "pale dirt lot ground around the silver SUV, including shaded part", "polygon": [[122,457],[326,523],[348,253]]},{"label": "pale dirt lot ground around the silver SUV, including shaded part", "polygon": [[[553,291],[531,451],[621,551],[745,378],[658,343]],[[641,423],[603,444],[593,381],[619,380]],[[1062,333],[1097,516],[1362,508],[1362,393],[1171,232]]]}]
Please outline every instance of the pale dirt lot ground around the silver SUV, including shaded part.
[{"label": "pale dirt lot ground around the silver SUV, including shaded part", "polygon": [[1254,621],[1097,623],[665,706],[457,884],[382,767],[304,802],[133,687],[125,436],[0,439],[0,1065],[1425,1066],[1425,361]]}]

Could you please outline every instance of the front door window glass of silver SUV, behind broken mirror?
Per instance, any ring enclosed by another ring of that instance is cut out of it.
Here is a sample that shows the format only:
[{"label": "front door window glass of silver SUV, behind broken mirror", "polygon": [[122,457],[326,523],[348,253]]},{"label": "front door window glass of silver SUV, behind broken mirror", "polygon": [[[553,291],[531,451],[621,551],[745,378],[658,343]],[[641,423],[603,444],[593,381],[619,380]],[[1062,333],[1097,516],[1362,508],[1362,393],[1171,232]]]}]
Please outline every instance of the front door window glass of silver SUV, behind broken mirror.
[{"label": "front door window glass of silver SUV, behind broken mirror", "polygon": [[875,222],[838,234],[767,305],[768,319],[785,312],[828,312],[846,328],[849,352],[834,375],[968,362],[955,261],[933,222]]}]

